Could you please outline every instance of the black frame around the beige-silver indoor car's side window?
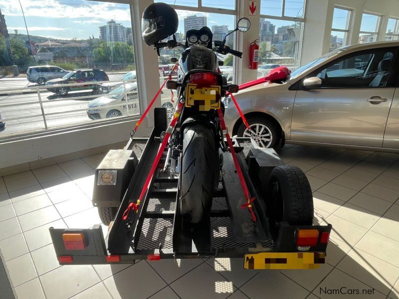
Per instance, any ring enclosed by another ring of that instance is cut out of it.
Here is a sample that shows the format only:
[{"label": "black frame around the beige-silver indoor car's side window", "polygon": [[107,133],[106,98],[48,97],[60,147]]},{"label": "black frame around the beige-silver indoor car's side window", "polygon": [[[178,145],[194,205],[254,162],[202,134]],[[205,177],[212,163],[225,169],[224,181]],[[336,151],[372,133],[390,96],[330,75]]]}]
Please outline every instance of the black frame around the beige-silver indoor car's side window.
[{"label": "black frame around the beige-silver indoor car's side window", "polygon": [[[398,68],[395,67],[396,65],[398,65],[399,62],[399,58],[398,58],[398,49],[399,47],[380,47],[380,48],[372,48],[372,49],[366,49],[366,50],[360,50],[360,51],[355,51],[352,53],[348,53],[346,55],[343,55],[341,57],[337,57],[336,59],[325,63],[323,65],[321,65],[320,67],[318,67],[317,69],[315,69],[313,72],[307,74],[306,76],[302,77],[301,79],[298,80],[298,82],[303,82],[303,80],[311,78],[311,77],[316,77],[316,75],[318,73],[320,73],[321,71],[323,71],[324,69],[329,68],[330,66],[336,64],[339,61],[343,61],[345,59],[349,59],[351,57],[356,57],[356,56],[360,56],[360,55],[367,55],[367,54],[374,54],[376,51],[391,51],[394,54],[394,59],[392,61],[392,69],[391,72],[389,74],[388,80],[387,80],[387,84],[386,86],[368,86],[368,87],[319,87],[319,88],[314,88],[314,90],[329,90],[329,89],[373,89],[373,88],[395,88],[398,84],[399,84],[399,80],[397,79],[397,75],[398,75]],[[303,88],[302,84],[299,84],[299,88],[298,90],[306,90],[305,88]]]}]

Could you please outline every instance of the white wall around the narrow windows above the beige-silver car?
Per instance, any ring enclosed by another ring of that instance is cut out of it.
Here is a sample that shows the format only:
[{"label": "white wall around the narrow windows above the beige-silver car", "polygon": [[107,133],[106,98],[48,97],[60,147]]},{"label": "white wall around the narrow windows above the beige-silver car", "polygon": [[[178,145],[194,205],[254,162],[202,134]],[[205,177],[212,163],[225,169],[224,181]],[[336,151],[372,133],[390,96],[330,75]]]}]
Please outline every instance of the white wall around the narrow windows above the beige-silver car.
[{"label": "white wall around the narrow windows above the beige-silver car", "polygon": [[352,9],[348,44],[359,41],[363,12],[382,16],[378,40],[385,40],[389,17],[399,17],[398,0],[307,0],[301,65],[328,53],[335,6]]}]

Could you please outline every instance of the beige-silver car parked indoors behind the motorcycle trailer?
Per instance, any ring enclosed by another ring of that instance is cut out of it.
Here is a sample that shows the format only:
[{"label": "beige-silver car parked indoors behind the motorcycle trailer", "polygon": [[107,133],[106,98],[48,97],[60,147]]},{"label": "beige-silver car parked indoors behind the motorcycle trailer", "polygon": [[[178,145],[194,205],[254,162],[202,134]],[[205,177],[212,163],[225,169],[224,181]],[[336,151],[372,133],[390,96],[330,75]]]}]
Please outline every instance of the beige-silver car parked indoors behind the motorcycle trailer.
[{"label": "beige-silver car parked indoors behind the motorcycle trailer", "polygon": [[229,133],[250,136],[261,147],[286,142],[398,152],[398,48],[399,41],[343,47],[285,81],[238,92],[252,132],[224,98]]}]

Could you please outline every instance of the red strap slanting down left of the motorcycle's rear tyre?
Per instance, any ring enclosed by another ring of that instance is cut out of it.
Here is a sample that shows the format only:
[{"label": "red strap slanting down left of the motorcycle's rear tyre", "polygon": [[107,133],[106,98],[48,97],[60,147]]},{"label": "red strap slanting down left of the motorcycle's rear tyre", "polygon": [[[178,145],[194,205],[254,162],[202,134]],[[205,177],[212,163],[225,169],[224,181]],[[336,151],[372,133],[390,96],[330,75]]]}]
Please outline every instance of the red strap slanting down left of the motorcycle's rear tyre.
[{"label": "red strap slanting down left of the motorcycle's rear tyre", "polygon": [[139,212],[140,203],[143,200],[143,197],[146,194],[146,192],[147,192],[147,190],[148,190],[148,188],[150,186],[150,182],[151,182],[151,180],[152,180],[152,178],[154,176],[155,170],[157,169],[157,166],[158,166],[158,163],[159,163],[159,161],[160,161],[160,159],[162,157],[162,154],[163,154],[163,152],[164,152],[164,150],[165,150],[165,148],[166,148],[166,146],[168,144],[169,137],[171,136],[171,132],[173,131],[173,128],[175,128],[175,126],[176,126],[176,123],[177,123],[177,121],[179,119],[180,112],[182,111],[182,109],[183,109],[183,103],[180,102],[179,105],[178,105],[178,108],[176,110],[176,113],[174,115],[174,118],[171,121],[171,123],[170,123],[170,125],[168,127],[168,130],[166,131],[165,137],[162,140],[161,146],[158,149],[157,155],[155,156],[154,163],[151,166],[150,173],[148,174],[147,179],[146,179],[146,181],[144,183],[143,189],[141,190],[140,197],[139,197],[139,199],[137,200],[136,203],[131,202],[129,204],[129,206],[127,207],[127,209],[123,213],[123,216],[122,216],[123,220],[126,220],[128,218],[130,210],[132,210],[133,212],[136,212],[136,213]]}]

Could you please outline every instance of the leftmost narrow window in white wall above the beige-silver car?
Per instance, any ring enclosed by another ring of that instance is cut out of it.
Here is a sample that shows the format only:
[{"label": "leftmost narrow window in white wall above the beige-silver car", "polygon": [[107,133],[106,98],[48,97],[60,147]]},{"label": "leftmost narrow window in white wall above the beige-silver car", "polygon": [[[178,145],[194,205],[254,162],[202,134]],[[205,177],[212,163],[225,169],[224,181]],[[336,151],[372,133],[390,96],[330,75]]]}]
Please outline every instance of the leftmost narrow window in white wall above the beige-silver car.
[{"label": "leftmost narrow window in white wall above the beige-silver car", "polygon": [[331,28],[330,52],[348,44],[349,25],[352,11],[335,7]]}]

